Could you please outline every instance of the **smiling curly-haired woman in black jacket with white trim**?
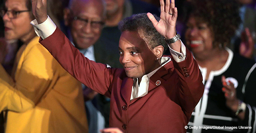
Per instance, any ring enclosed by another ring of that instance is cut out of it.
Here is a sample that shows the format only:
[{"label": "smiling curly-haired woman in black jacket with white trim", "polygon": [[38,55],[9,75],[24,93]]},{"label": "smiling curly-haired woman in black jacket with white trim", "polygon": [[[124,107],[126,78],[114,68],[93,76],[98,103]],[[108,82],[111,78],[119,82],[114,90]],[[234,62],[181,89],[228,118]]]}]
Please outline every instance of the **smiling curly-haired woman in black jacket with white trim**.
[{"label": "smiling curly-haired woman in black jacket with white trim", "polygon": [[256,65],[227,48],[240,23],[239,5],[235,0],[194,0],[192,5],[185,37],[205,88],[188,124],[197,128],[187,132],[255,133]]}]

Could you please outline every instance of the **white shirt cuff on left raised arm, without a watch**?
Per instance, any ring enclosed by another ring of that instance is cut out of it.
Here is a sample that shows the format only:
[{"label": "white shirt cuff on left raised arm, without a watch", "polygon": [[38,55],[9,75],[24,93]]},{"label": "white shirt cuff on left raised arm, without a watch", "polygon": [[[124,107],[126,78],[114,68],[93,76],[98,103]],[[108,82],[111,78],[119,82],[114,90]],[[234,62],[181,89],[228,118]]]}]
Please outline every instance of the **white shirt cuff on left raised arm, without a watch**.
[{"label": "white shirt cuff on left raised arm, without a watch", "polygon": [[30,24],[33,25],[37,36],[41,36],[42,39],[45,39],[48,36],[52,35],[57,28],[57,26],[54,24],[54,22],[49,16],[45,20],[45,22],[41,24],[38,24],[36,19],[30,22]]}]

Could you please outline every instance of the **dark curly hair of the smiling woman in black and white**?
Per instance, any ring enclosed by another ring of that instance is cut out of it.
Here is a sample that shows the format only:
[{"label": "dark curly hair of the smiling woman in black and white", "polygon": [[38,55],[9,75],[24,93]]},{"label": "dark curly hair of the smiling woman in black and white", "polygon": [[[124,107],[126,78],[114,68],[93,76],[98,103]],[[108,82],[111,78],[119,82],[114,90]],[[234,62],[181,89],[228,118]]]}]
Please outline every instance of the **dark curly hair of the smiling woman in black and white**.
[{"label": "dark curly hair of the smiling woman in black and white", "polygon": [[193,0],[190,15],[205,22],[214,35],[213,47],[230,44],[241,23],[236,0]]}]

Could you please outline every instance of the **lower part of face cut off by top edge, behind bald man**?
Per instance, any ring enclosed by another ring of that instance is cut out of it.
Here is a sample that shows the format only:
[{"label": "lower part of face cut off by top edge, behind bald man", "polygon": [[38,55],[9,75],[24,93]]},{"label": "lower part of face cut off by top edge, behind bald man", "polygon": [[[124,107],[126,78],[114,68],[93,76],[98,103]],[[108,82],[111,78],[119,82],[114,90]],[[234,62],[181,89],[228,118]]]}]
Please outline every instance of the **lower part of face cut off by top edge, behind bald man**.
[{"label": "lower part of face cut off by top edge, behind bald man", "polygon": [[107,4],[107,13],[113,14],[116,13],[124,5],[124,0],[105,0]]}]

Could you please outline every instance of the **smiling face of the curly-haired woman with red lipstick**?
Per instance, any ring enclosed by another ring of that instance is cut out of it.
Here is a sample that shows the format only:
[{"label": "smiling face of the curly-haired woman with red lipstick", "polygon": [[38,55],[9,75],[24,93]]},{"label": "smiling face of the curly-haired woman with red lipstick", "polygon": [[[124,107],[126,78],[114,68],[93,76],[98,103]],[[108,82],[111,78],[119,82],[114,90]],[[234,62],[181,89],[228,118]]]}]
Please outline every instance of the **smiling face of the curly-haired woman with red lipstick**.
[{"label": "smiling face of the curly-haired woman with red lipstick", "polygon": [[206,23],[198,23],[196,18],[190,17],[185,33],[187,47],[194,54],[207,52],[213,49],[213,35]]}]

